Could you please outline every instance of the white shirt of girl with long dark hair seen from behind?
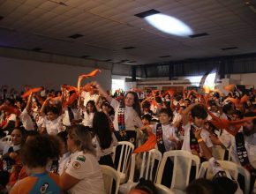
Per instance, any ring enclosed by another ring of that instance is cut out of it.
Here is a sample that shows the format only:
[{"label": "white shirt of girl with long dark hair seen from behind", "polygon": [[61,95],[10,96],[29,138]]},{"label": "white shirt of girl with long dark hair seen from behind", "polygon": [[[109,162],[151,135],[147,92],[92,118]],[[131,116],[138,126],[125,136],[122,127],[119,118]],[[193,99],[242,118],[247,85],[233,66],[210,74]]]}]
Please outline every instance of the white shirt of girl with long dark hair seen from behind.
[{"label": "white shirt of girl with long dark hair seen from behind", "polygon": [[97,160],[100,160],[101,157],[104,155],[109,155],[110,153],[112,153],[113,146],[117,146],[117,144],[118,144],[117,138],[114,135],[114,133],[112,133],[112,142],[107,149],[102,150],[100,143],[99,143],[99,139],[96,136],[93,138],[92,141],[93,141],[93,145],[95,146],[95,149],[96,149]]}]

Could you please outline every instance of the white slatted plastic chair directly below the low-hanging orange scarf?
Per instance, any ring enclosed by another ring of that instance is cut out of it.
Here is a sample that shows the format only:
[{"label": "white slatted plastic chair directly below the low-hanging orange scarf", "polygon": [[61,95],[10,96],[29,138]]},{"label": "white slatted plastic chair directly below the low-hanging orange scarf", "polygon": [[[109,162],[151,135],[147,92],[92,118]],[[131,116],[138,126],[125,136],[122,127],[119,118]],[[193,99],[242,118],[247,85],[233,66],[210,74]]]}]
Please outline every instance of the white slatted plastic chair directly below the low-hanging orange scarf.
[{"label": "white slatted plastic chair directly below the low-hanging orange scarf", "polygon": [[[140,153],[133,153],[132,160],[131,160],[131,168],[130,168],[130,175],[127,183],[120,185],[120,192],[121,193],[128,193],[129,190],[132,189],[137,183],[134,183],[134,172],[136,168],[136,158]],[[139,178],[145,178],[146,180],[151,180],[154,182],[153,172],[154,172],[154,163],[158,161],[158,165],[156,166],[156,171],[159,168],[160,161],[162,160],[162,153],[158,150],[150,150],[148,152],[142,153],[142,160],[141,165],[139,165]]]}]

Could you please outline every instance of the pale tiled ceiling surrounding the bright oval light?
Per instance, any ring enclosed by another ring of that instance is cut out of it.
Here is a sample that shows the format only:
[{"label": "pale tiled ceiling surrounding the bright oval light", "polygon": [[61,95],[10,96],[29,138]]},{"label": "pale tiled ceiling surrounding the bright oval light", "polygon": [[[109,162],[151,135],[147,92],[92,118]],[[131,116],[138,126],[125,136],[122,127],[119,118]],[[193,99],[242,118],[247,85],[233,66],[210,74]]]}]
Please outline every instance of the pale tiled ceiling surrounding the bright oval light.
[{"label": "pale tiled ceiling surrounding the bright oval light", "polygon": [[[164,34],[134,16],[150,9],[209,35]],[[145,64],[256,52],[256,13],[245,0],[0,0],[0,16],[1,46],[64,56]]]}]

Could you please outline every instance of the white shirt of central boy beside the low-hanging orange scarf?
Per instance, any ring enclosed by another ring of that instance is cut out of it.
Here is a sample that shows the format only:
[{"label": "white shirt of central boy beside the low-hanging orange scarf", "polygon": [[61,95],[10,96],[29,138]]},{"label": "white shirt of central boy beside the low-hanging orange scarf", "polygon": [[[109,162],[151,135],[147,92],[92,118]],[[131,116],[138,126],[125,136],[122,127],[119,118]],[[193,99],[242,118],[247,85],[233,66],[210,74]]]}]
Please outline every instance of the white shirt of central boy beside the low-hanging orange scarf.
[{"label": "white shirt of central boy beside the low-hanging orange scarf", "polygon": [[[158,123],[154,124],[154,127],[153,127],[153,132],[155,135],[156,135],[157,124]],[[169,150],[175,150],[177,148],[177,144],[169,140],[170,136],[173,136],[173,138],[175,138],[176,140],[179,140],[179,138],[177,138],[177,128],[169,124],[162,125],[162,140],[167,152]],[[157,145],[155,145],[155,148],[158,148]]]}]

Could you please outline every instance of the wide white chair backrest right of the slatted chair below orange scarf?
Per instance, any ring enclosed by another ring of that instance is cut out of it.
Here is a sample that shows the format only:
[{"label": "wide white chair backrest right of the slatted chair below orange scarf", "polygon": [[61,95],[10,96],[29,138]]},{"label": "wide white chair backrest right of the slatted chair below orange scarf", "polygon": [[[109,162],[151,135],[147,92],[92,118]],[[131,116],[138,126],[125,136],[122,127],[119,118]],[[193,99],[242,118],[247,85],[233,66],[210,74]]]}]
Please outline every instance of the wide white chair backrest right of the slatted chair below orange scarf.
[{"label": "wide white chair backrest right of the slatted chair below orange scarf", "polygon": [[200,158],[183,150],[173,150],[164,153],[156,177],[156,183],[158,184],[161,184],[162,182],[162,174],[168,158],[173,162],[170,189],[184,190],[190,181],[192,165],[196,168],[195,175],[198,175],[200,169]]}]

